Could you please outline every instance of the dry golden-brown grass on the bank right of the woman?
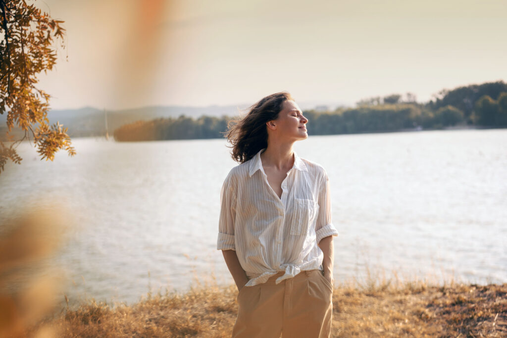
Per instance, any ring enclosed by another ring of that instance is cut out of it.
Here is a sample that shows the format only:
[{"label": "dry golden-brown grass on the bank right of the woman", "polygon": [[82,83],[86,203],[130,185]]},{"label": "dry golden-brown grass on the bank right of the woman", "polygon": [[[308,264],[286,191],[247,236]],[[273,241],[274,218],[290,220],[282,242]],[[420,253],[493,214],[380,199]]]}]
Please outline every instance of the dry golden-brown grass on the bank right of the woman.
[{"label": "dry golden-brown grass on the bank right of the woman", "polygon": [[333,305],[335,336],[507,336],[507,284],[339,287]]}]

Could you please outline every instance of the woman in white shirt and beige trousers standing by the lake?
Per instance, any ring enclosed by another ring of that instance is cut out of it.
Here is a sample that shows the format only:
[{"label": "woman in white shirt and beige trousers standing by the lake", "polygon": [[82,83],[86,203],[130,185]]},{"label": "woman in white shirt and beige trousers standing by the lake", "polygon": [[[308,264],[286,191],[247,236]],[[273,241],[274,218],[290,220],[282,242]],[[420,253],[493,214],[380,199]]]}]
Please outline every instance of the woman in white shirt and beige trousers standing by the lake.
[{"label": "woman in white shirt and beige trousers standing by the lake", "polygon": [[307,122],[281,92],[229,127],[240,165],[222,187],[217,248],[239,290],[233,337],[330,336],[338,232],[327,174],[293,151]]}]

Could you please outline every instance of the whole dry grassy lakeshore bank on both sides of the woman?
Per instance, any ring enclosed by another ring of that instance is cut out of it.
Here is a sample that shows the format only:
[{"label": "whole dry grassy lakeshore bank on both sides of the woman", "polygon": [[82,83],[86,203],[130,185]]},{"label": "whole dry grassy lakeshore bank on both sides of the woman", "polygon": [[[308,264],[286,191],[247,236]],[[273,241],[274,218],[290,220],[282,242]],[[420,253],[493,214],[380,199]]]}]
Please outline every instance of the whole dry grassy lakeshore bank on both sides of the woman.
[{"label": "whole dry grassy lakeshore bank on both sides of the woman", "polygon": [[[63,337],[229,337],[236,295],[232,286],[203,287],[131,306],[92,301],[50,325]],[[335,289],[333,307],[333,336],[507,336],[507,284],[353,283]]]}]

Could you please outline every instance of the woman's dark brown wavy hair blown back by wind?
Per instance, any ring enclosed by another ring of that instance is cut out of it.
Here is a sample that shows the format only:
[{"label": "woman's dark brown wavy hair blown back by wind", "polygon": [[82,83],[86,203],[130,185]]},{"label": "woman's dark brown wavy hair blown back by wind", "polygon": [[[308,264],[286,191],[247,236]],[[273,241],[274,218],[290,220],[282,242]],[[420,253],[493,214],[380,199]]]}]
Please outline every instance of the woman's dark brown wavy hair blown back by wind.
[{"label": "woman's dark brown wavy hair blown back by wind", "polygon": [[248,114],[229,121],[226,137],[234,161],[244,163],[268,146],[266,123],[278,118],[283,102],[294,100],[288,92],[268,95],[250,106]]}]

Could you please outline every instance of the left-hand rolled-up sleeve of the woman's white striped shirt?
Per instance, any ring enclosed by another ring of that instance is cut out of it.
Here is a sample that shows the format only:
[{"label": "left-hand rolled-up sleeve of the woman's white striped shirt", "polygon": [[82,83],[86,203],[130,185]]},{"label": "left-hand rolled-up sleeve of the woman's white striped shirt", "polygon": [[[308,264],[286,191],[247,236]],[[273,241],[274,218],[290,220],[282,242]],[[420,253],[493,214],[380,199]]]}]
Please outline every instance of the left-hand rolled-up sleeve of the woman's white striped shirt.
[{"label": "left-hand rolled-up sleeve of the woman's white striped shirt", "polygon": [[236,250],[234,242],[234,222],[236,218],[236,184],[229,173],[222,185],[220,194],[218,250]]}]

